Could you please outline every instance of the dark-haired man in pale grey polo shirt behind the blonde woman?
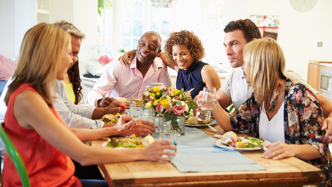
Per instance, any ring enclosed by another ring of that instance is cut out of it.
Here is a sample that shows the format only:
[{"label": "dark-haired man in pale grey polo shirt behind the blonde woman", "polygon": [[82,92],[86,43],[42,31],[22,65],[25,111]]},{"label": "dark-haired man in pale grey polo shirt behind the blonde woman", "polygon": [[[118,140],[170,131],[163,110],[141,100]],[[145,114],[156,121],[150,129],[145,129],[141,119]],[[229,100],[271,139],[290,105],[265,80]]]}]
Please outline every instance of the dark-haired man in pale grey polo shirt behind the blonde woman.
[{"label": "dark-haired man in pale grey polo shirt behind the blonde woman", "polygon": [[[237,20],[229,22],[224,29],[225,39],[224,46],[225,52],[230,62],[230,65],[235,68],[228,77],[226,82],[217,91],[220,96],[219,104],[222,108],[227,108],[233,103],[234,108],[238,108],[243,104],[251,95],[251,84],[246,82],[243,77],[243,70],[241,69],[243,62],[243,48],[252,41],[262,38],[258,27],[249,19]],[[285,69],[285,76],[305,85],[315,96],[318,98],[321,107],[323,108],[324,117],[322,130],[327,130],[323,141],[325,143],[332,142],[332,101],[319,94],[315,89],[292,70]],[[331,122],[330,122],[331,121]]]}]

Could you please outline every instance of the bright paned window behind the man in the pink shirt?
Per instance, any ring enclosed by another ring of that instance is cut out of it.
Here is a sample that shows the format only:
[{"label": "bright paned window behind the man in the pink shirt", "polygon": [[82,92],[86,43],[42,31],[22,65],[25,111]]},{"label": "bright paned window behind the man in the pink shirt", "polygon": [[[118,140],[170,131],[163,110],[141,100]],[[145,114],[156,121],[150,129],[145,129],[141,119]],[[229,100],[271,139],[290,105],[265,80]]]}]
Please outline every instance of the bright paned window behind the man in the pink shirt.
[{"label": "bright paned window behind the man in the pink shirt", "polygon": [[163,42],[173,31],[174,8],[155,8],[150,0],[98,1],[98,55],[117,57],[136,49],[147,31],[159,33]]}]

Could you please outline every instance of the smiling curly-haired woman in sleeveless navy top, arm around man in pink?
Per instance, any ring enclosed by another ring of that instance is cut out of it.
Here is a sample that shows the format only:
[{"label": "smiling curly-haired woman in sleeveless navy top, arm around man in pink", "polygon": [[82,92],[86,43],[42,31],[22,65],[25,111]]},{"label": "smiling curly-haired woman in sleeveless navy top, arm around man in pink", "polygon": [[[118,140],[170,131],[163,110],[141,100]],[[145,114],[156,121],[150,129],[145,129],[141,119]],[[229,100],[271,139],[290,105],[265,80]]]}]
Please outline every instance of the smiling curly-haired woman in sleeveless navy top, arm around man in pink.
[{"label": "smiling curly-haired woman in sleeveless navy top, arm around man in pink", "polygon": [[[172,32],[165,41],[165,53],[159,56],[168,67],[176,70],[176,88],[191,92],[194,98],[203,87],[221,87],[219,76],[207,63],[202,62],[205,55],[202,41],[193,32],[182,30]],[[132,57],[133,51],[127,52],[119,59],[128,63],[128,56]],[[127,58],[124,58],[127,57]],[[173,59],[173,60],[172,60]]]}]

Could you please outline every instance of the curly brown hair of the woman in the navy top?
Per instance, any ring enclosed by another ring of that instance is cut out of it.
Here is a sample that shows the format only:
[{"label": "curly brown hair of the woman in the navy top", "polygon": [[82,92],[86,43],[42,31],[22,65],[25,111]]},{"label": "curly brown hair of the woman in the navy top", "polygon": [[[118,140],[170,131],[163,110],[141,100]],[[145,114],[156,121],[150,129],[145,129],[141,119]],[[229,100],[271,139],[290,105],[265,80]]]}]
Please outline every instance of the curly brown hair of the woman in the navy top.
[{"label": "curly brown hair of the woman in the navy top", "polygon": [[192,31],[182,30],[180,32],[172,32],[168,36],[168,39],[165,40],[164,51],[165,54],[172,59],[173,63],[175,63],[172,54],[173,46],[188,48],[196,63],[201,62],[202,58],[205,56],[202,40],[200,40]]}]

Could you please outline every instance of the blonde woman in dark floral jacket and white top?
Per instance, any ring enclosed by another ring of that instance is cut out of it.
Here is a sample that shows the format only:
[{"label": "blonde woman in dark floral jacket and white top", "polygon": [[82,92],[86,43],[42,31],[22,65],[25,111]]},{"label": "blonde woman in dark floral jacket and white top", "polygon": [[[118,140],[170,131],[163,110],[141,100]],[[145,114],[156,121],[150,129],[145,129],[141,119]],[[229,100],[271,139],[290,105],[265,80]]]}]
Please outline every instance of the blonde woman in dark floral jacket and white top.
[{"label": "blonde woman in dark floral jacket and white top", "polygon": [[225,112],[218,103],[212,110],[215,120],[224,131],[254,130],[257,138],[272,142],[265,145],[268,149],[262,157],[266,159],[295,156],[321,168],[319,186],[331,186],[331,156],[322,142],[324,117],[318,99],[305,86],[285,77],[285,57],[274,39],[248,43],[243,57],[244,78],[253,93],[233,113]]}]

